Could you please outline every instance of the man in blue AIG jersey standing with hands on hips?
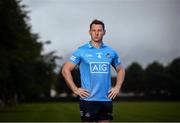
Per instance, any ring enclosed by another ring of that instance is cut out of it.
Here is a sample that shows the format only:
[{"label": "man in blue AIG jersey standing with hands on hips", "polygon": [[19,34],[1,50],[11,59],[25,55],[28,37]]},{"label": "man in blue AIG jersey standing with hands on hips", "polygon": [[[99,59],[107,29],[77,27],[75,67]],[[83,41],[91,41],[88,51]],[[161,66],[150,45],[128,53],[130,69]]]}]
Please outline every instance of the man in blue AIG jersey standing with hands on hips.
[{"label": "man in blue AIG jersey standing with hands on hips", "polygon": [[[80,96],[80,113],[83,122],[109,122],[112,117],[112,99],[120,91],[124,70],[117,53],[103,43],[105,25],[94,20],[90,24],[91,41],[72,53],[62,74],[69,88]],[[81,87],[73,81],[71,71],[79,65]],[[111,87],[110,65],[117,72],[117,81]]]}]

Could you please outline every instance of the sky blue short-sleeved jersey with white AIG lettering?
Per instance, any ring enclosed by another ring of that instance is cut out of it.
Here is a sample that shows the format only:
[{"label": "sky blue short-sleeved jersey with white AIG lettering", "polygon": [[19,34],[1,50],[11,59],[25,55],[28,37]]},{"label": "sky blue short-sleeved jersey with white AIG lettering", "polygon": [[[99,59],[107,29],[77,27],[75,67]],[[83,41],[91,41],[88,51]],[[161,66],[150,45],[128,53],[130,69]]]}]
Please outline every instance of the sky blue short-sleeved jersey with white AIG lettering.
[{"label": "sky blue short-sleeved jersey with white AIG lettering", "polygon": [[72,53],[70,62],[79,65],[81,87],[88,90],[86,101],[111,101],[108,91],[111,89],[110,65],[116,68],[121,64],[117,53],[104,43],[95,48],[91,42],[79,47]]}]

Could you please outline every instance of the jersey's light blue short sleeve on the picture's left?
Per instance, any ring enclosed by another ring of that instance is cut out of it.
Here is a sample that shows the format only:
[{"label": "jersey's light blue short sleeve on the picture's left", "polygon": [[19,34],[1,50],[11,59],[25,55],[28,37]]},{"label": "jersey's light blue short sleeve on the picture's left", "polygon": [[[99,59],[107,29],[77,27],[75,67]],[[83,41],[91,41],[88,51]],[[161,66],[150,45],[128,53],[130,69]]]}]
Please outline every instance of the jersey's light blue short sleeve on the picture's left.
[{"label": "jersey's light blue short sleeve on the picture's left", "polygon": [[75,52],[73,52],[69,58],[69,61],[74,63],[74,64],[79,64],[80,62],[80,51],[76,50]]}]

